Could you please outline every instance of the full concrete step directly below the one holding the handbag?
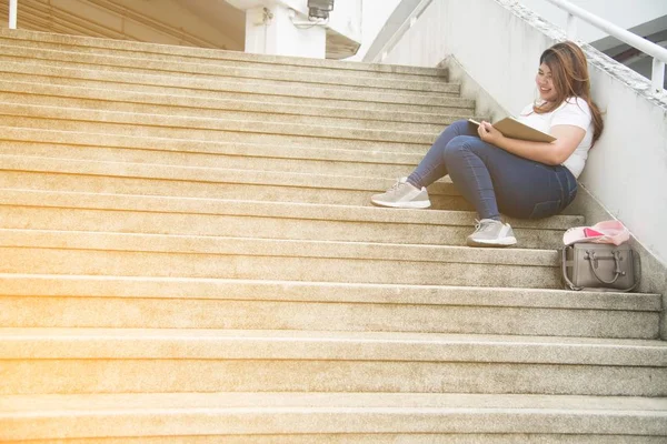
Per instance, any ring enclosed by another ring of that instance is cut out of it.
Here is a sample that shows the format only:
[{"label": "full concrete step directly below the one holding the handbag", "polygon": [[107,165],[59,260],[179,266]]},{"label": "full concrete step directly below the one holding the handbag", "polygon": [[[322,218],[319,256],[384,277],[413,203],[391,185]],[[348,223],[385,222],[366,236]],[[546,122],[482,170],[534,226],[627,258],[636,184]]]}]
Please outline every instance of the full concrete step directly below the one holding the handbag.
[{"label": "full concrete step directly below the one holding the handbag", "polygon": [[663,341],[2,329],[0,346],[3,395],[239,391],[667,396]]}]

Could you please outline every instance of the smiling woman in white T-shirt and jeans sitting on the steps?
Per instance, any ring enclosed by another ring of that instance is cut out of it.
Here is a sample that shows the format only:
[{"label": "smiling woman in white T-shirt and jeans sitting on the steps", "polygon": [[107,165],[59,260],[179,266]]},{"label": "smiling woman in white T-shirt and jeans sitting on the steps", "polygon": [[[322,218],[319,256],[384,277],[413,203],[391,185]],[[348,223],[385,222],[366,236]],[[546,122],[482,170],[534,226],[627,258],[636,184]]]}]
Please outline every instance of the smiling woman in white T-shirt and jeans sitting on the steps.
[{"label": "smiling woman in white T-shirt and jeans sitting on the steps", "polygon": [[586,56],[566,41],[540,57],[535,82],[540,99],[517,120],[549,133],[554,142],[529,142],[504,137],[490,123],[474,130],[467,121],[449,125],[421,163],[389,191],[371,202],[391,208],[428,208],[426,186],[449,174],[479,220],[468,245],[516,244],[512,218],[539,219],[558,214],[577,194],[577,178],[588,150],[603,132],[600,111],[590,99]]}]

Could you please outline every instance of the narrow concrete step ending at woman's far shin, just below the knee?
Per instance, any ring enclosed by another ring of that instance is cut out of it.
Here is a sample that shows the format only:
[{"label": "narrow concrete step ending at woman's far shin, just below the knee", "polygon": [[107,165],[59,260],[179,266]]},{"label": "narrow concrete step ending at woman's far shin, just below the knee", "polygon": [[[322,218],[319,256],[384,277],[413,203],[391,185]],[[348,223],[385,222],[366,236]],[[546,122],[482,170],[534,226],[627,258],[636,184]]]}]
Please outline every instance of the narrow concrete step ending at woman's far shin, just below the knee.
[{"label": "narrow concrete step ending at woman's far shin, just below the knee", "polygon": [[225,140],[229,133],[249,133],[431,144],[438,135],[437,131],[429,133],[396,131],[395,124],[390,122],[379,122],[377,129],[358,129],[326,123],[273,123],[267,122],[259,115],[253,120],[226,120],[18,103],[0,103],[0,113],[2,115],[0,124],[7,127],[94,133],[122,132],[128,135],[195,140]]}]

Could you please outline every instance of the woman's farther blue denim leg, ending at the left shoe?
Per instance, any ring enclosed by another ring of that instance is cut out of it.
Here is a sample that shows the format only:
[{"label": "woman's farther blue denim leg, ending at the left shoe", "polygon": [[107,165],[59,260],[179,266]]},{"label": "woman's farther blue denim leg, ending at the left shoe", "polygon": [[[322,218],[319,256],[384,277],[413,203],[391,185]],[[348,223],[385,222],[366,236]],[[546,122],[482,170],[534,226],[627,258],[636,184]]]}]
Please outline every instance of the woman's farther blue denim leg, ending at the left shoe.
[{"label": "woman's farther blue denim leg, ending at the left shoe", "polygon": [[467,120],[458,120],[447,127],[428,150],[419,165],[408,176],[408,182],[417,188],[428,186],[447,175],[448,169],[445,162],[447,144],[456,137],[475,134],[470,131],[470,124]]}]

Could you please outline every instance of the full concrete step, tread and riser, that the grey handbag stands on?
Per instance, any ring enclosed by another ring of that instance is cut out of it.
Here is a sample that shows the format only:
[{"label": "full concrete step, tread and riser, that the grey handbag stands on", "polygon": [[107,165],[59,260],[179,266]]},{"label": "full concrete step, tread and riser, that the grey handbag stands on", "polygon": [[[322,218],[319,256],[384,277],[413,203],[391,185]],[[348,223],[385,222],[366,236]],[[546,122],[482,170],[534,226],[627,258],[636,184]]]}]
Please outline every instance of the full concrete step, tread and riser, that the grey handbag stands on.
[{"label": "full concrete step, tread and riser, that the grey handbag stands on", "polygon": [[656,339],[661,307],[658,294],[33,274],[0,275],[0,327]]}]

